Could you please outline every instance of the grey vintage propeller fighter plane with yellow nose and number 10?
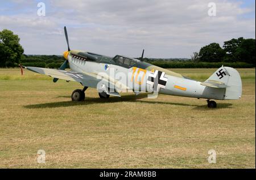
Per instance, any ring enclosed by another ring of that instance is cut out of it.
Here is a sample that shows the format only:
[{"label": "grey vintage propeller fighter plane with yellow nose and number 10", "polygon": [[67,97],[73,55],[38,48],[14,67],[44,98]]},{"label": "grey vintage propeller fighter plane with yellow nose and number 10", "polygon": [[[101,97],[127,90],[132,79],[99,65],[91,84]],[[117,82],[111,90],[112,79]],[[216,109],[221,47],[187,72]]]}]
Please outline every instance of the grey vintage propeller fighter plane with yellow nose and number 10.
[{"label": "grey vintage propeller fighter plane with yellow nose and number 10", "polygon": [[[64,79],[79,82],[82,89],[73,91],[72,101],[84,101],[88,87],[97,88],[100,98],[120,96],[124,90],[151,92],[158,95],[173,95],[207,99],[209,108],[216,108],[213,100],[237,100],[242,95],[240,74],[232,67],[220,67],[205,82],[189,79],[181,74],[143,62],[135,58],[115,55],[108,57],[83,50],[69,48],[67,28],[64,27],[68,50],[66,59],[59,69],[25,67],[27,70],[45,74],[53,82]],[[71,71],[65,70],[69,67]]]}]

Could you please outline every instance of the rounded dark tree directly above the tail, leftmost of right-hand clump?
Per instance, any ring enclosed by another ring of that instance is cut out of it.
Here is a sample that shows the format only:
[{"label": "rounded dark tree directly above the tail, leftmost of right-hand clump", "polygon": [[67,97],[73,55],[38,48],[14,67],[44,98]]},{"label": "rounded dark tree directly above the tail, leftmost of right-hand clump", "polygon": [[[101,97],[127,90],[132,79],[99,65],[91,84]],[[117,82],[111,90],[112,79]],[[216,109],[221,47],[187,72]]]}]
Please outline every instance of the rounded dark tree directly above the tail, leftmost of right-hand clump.
[{"label": "rounded dark tree directly above the tail, leftmost of right-hand clump", "polygon": [[225,51],[218,43],[211,43],[200,49],[199,57],[202,62],[221,62]]}]

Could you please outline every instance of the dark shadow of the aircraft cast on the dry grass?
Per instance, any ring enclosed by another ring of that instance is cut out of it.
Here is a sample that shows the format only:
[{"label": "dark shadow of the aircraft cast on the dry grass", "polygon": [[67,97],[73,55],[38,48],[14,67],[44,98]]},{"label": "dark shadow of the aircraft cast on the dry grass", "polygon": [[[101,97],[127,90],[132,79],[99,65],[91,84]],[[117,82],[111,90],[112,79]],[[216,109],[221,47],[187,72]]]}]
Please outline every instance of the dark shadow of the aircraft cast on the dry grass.
[{"label": "dark shadow of the aircraft cast on the dry grass", "polygon": [[[75,101],[60,101],[60,102],[48,102],[43,104],[32,104],[32,105],[25,105],[24,108],[27,109],[40,109],[40,108],[59,108],[59,107],[67,107],[67,106],[77,106],[77,105],[88,105],[88,104],[102,104],[102,103],[114,103],[114,102],[140,102],[146,104],[168,104],[168,105],[179,105],[179,106],[195,106],[193,109],[198,110],[208,110],[207,102],[205,105],[193,105],[193,104],[184,104],[184,103],[177,103],[177,102],[162,102],[162,101],[143,101],[141,99],[147,98],[147,93],[142,93],[139,95],[125,95],[122,97],[110,97],[108,99],[99,98],[99,97],[85,97],[85,101],[75,102]],[[58,96],[60,97],[67,97],[70,96]],[[216,109],[222,108],[229,108],[232,104],[224,104],[224,103],[217,103]]]}]

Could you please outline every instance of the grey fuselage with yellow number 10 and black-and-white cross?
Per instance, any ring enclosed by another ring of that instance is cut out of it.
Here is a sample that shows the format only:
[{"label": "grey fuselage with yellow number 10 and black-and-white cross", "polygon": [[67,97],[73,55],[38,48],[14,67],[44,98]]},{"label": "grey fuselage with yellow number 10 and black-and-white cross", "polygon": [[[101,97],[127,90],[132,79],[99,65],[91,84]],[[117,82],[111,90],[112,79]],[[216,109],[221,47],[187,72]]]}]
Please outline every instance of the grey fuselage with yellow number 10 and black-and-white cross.
[{"label": "grey fuselage with yellow number 10 and black-and-white cross", "polygon": [[201,82],[138,59],[121,55],[113,58],[79,50],[71,50],[67,54],[67,59],[72,71],[105,76],[104,78],[121,84],[123,89],[131,89],[135,93],[154,92],[223,100],[222,92],[220,92],[223,89],[206,91],[208,87],[201,85]]}]

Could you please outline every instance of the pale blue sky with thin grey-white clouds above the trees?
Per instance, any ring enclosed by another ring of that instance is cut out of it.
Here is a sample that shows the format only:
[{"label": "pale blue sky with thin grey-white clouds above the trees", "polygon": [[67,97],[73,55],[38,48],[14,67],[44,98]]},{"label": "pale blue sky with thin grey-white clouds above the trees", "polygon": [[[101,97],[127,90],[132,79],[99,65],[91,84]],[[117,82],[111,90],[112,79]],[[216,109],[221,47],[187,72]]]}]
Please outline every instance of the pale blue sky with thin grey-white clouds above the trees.
[{"label": "pale blue sky with thin grey-white clouds above the trees", "polygon": [[[38,3],[45,5],[39,16]],[[216,16],[208,11],[216,5]],[[71,49],[114,56],[190,58],[212,42],[255,38],[254,0],[0,0],[0,31],[20,37],[25,54]]]}]

